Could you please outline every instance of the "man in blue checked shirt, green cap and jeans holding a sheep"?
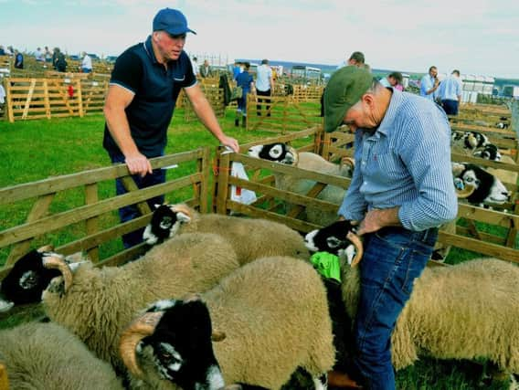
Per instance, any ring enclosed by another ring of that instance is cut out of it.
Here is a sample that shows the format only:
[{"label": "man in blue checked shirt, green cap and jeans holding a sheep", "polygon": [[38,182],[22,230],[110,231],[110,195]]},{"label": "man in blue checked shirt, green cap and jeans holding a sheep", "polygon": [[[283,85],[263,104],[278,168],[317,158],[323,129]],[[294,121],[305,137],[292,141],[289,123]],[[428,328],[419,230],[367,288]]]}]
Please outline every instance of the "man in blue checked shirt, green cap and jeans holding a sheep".
[{"label": "man in blue checked shirt, green cap and jeans holding a sheep", "polygon": [[445,153],[449,121],[432,101],[387,89],[351,66],[328,82],[324,109],[326,132],[341,124],[355,132],[355,172],[339,209],[358,224],[365,246],[349,374],[364,388],[391,390],[391,332],[432,254],[438,227],[458,211]]}]

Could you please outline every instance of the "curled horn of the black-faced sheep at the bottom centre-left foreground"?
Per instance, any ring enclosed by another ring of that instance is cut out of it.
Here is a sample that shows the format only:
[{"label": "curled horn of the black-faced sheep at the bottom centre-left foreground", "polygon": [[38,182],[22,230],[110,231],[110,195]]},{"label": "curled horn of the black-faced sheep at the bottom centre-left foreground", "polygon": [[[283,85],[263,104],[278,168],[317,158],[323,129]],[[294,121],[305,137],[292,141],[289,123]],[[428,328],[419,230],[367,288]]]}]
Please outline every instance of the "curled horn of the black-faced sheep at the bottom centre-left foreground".
[{"label": "curled horn of the black-faced sheep at the bottom centre-left foreground", "polygon": [[122,332],[119,353],[128,371],[135,376],[143,376],[143,371],[137,363],[135,348],[144,337],[154,334],[155,327],[161,321],[163,314],[164,311],[146,312]]}]

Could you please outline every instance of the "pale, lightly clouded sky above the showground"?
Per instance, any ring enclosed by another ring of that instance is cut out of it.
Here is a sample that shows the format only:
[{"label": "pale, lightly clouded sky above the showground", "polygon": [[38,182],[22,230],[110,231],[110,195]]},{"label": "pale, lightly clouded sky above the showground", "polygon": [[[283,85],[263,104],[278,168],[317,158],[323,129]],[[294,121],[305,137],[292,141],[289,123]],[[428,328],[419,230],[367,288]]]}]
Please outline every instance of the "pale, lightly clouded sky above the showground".
[{"label": "pale, lightly clouded sky above the showground", "polygon": [[154,15],[180,9],[196,35],[185,50],[228,58],[519,79],[518,0],[0,0],[0,45],[119,55]]}]

